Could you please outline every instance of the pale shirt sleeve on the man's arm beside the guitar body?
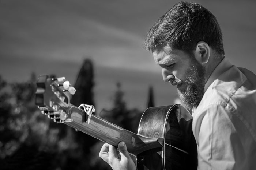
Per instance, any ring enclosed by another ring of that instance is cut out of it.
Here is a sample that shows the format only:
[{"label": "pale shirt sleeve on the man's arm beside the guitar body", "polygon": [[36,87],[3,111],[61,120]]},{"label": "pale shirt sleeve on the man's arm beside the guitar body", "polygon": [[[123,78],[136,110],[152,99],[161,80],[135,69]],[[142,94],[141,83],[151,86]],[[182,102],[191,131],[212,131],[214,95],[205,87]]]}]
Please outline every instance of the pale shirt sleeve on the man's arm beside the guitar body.
[{"label": "pale shirt sleeve on the man's arm beside the guitar body", "polygon": [[197,113],[193,133],[199,170],[239,169],[242,145],[229,116],[230,111],[219,105],[208,106]]}]

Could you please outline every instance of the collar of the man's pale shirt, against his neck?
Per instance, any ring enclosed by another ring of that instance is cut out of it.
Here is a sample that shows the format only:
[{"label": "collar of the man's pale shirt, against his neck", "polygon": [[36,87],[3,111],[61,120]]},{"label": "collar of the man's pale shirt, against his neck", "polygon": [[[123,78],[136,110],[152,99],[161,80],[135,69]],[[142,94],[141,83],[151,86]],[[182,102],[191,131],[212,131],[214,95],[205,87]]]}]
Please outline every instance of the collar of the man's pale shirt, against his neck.
[{"label": "collar of the man's pale shirt, against his neck", "polygon": [[224,57],[208,78],[204,86],[204,92],[206,92],[214,80],[216,80],[223,72],[229,70],[230,67],[232,67],[232,64]]}]

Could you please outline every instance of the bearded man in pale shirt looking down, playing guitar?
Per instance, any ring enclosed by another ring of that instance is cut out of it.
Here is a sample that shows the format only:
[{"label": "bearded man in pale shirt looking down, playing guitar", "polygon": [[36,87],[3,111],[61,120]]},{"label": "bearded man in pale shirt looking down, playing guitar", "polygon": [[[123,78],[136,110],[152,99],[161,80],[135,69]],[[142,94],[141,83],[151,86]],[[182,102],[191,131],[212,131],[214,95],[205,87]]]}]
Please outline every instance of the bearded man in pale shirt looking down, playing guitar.
[{"label": "bearded man in pale shirt looking down, playing guitar", "polygon": [[[151,27],[144,46],[177,85],[192,110],[200,170],[256,169],[256,76],[224,56],[222,33],[212,13],[180,2]],[[113,169],[136,169],[124,142],[102,146],[100,157]]]}]

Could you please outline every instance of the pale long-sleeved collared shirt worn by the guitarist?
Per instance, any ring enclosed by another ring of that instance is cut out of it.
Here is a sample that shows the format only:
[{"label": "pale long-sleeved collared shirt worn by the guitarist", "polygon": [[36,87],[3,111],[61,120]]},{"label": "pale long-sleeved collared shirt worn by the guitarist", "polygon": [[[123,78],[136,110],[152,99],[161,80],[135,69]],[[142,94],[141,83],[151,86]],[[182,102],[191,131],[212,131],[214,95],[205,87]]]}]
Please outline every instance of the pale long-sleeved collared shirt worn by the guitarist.
[{"label": "pale long-sleeved collared shirt worn by the guitarist", "polygon": [[256,75],[223,59],[192,112],[199,170],[256,170]]}]

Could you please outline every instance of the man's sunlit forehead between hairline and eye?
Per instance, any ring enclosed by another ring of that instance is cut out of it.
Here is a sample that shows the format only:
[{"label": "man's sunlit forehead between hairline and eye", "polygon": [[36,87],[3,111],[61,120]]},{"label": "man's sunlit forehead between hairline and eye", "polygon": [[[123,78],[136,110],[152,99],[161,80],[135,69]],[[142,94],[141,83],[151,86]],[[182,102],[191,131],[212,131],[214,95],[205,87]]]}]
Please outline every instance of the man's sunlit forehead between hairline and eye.
[{"label": "man's sunlit forehead between hairline and eye", "polygon": [[172,49],[169,46],[153,52],[154,60],[157,64],[172,63],[176,60],[189,60],[189,56],[182,50]]}]

